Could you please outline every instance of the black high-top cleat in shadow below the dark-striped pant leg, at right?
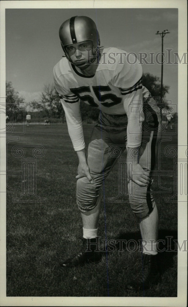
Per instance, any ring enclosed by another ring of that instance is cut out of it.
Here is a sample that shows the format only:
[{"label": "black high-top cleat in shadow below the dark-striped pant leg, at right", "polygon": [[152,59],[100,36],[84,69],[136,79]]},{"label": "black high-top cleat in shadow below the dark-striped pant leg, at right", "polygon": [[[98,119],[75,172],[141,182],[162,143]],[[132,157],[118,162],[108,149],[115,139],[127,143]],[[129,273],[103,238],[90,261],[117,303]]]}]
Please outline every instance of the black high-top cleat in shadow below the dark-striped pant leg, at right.
[{"label": "black high-top cleat in shadow below the dark-striped pant leg, at right", "polygon": [[157,255],[143,255],[140,274],[126,285],[128,290],[146,290],[151,285],[160,281],[160,273],[157,265]]}]

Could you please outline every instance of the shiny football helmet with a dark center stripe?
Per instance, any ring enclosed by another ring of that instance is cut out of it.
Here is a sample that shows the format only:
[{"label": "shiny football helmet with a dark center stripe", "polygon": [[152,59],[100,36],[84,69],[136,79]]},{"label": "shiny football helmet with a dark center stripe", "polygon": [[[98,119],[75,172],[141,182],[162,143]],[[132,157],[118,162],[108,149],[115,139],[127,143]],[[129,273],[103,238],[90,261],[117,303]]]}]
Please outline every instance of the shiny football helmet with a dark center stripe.
[{"label": "shiny football helmet with a dark center stripe", "polygon": [[65,56],[71,61],[67,45],[80,43],[82,41],[93,42],[93,55],[97,56],[100,47],[100,37],[94,21],[86,16],[74,16],[62,23],[59,28],[59,38]]}]

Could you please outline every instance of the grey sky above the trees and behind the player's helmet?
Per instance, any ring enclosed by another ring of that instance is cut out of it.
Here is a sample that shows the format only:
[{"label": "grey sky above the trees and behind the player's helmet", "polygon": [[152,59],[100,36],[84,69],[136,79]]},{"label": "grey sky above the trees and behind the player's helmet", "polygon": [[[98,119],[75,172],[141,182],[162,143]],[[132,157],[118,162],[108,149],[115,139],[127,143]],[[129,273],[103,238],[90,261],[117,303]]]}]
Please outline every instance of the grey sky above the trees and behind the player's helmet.
[{"label": "grey sky above the trees and behind the player's helmet", "polygon": [[[161,77],[161,64],[155,55],[161,52],[162,39],[157,31],[168,29],[165,49],[178,52],[178,9],[6,9],[6,80],[25,98],[26,103],[40,99],[45,84],[53,84],[53,67],[62,58],[59,27],[75,15],[92,18],[98,28],[101,45],[126,52],[154,52],[155,64],[143,64],[143,72]],[[167,53],[166,53],[167,54]],[[151,58],[147,58],[151,62]],[[161,56],[159,56],[161,61]],[[165,55],[165,61],[167,57]],[[178,65],[163,65],[166,95],[178,103]]]}]

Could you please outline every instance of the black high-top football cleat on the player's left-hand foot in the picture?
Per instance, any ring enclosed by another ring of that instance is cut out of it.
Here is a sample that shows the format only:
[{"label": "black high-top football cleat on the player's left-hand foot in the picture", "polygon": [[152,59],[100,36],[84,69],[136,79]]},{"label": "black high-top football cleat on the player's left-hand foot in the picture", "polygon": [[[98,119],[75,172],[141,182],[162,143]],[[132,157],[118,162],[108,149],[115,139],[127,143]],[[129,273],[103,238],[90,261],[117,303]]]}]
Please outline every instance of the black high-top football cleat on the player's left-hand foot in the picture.
[{"label": "black high-top football cleat on the player's left-hand foot in the picture", "polygon": [[[94,243],[92,245],[92,243]],[[90,245],[91,244],[91,245]],[[86,263],[99,262],[102,258],[101,251],[97,250],[96,239],[83,239],[83,250],[60,263],[63,267],[84,266]]]}]

